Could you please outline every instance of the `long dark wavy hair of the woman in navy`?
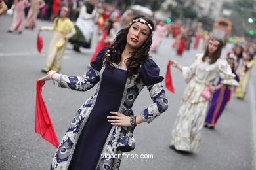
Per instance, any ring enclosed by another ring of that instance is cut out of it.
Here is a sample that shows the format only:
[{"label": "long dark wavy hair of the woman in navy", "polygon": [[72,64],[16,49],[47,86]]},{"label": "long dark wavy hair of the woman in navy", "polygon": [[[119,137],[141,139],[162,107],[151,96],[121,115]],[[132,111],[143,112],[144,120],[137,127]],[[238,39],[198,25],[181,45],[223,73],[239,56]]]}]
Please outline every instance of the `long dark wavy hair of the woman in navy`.
[{"label": "long dark wavy hair of the woman in navy", "polygon": [[[135,16],[133,20],[137,18],[143,18],[144,20],[146,20],[146,22],[150,23],[154,30],[154,23],[152,22],[152,20],[142,15]],[[119,64],[121,62],[121,53],[125,49],[127,43],[126,38],[129,29],[130,26],[121,29],[121,31],[117,33],[116,39],[111,44],[109,50],[105,52],[103,59],[106,59],[106,66],[108,68],[112,69],[114,67],[112,63]],[[146,61],[146,59],[150,58],[148,52],[150,51],[150,46],[152,44],[151,34],[152,33],[150,32],[144,44],[140,46],[140,48],[138,48],[135,52],[132,52],[131,57],[127,58],[127,78],[132,78],[134,75],[138,75],[135,80],[136,82],[139,82],[140,80],[140,65],[142,65],[142,63]]]}]

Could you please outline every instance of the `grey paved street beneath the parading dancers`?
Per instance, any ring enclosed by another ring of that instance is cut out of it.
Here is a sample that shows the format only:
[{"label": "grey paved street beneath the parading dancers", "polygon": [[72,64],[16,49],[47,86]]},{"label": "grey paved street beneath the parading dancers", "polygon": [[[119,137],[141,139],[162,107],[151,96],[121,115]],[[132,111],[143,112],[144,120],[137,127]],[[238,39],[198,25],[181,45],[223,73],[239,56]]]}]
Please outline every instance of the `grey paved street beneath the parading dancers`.
[{"label": "grey paved street beneath the parading dancers", "polygon": [[[39,20],[35,30],[25,30],[21,35],[7,33],[11,25],[10,16],[0,17],[0,169],[49,169],[56,148],[35,133],[35,83],[44,74],[40,72],[45,63],[45,53],[53,35],[43,32],[42,54],[36,49],[39,27],[52,25]],[[96,30],[96,29],[95,29]],[[171,49],[171,37],[163,39],[157,54],[152,58],[165,76],[168,59],[182,65],[190,65],[199,50],[185,51],[182,57]],[[96,46],[96,37],[93,47]],[[230,46],[223,50],[223,57]],[[92,50],[76,53],[68,45],[62,71],[66,75],[82,76]],[[129,154],[153,154],[153,159],[123,159],[121,169],[175,169],[175,170],[251,170],[256,169],[256,72],[253,68],[251,83],[244,100],[232,97],[215,130],[203,129],[203,138],[198,154],[179,154],[169,149],[173,127],[181,95],[186,86],[182,73],[172,68],[175,94],[167,91],[169,109],[151,124],[140,124],[135,129],[136,148]],[[61,140],[75,112],[83,102],[93,95],[58,88],[49,81],[43,87],[43,97],[51,116],[58,139]],[[140,93],[133,111],[140,114],[152,103],[148,90]],[[128,153],[127,153],[128,154]]]}]

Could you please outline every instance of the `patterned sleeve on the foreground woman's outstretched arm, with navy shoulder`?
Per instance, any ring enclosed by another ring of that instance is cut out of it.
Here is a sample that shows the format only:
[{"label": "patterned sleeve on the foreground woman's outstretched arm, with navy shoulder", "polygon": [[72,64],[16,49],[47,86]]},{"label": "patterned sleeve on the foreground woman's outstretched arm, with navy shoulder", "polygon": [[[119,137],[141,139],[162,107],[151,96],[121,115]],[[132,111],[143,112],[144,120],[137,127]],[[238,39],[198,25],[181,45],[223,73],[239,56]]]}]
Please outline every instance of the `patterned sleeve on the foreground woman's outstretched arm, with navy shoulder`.
[{"label": "patterned sleeve on the foreground woman's outstretched arm, with navy shoulder", "polygon": [[95,84],[97,84],[100,80],[100,70],[102,68],[102,56],[104,56],[104,51],[106,48],[103,48],[98,55],[96,56],[96,61],[91,62],[91,69],[81,76],[68,76],[60,74],[60,78],[58,80],[58,86],[62,88],[69,88],[77,91],[86,91]]}]

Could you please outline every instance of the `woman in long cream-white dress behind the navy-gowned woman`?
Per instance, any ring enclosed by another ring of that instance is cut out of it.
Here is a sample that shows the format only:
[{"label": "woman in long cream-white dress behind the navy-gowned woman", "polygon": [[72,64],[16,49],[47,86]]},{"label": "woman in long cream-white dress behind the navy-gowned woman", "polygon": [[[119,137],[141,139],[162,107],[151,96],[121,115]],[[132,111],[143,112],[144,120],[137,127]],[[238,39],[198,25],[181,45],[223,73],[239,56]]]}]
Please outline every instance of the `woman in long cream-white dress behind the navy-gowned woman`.
[{"label": "woman in long cream-white dress behind the navy-gowned woman", "polygon": [[[204,54],[196,54],[194,63],[183,67],[176,61],[171,65],[182,72],[188,85],[182,95],[179,112],[175,120],[170,148],[186,152],[198,152],[202,139],[202,128],[210,99],[202,96],[203,90],[209,88],[211,92],[228,84],[238,86],[227,61],[220,59],[223,42],[210,39]],[[221,84],[213,86],[215,78],[222,79]]]}]

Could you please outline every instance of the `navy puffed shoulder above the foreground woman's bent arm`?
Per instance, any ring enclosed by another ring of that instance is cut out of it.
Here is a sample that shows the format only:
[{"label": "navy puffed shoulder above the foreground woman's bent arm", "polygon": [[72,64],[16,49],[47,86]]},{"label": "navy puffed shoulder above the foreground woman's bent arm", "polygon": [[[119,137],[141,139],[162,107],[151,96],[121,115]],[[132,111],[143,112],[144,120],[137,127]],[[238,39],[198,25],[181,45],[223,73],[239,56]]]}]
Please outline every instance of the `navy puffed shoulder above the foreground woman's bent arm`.
[{"label": "navy puffed shoulder above the foreground woman's bent arm", "polygon": [[152,59],[146,60],[140,68],[142,82],[146,86],[149,86],[163,81],[163,77],[159,75],[159,71],[158,65]]}]

